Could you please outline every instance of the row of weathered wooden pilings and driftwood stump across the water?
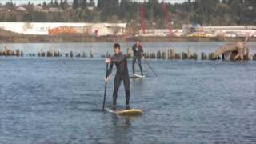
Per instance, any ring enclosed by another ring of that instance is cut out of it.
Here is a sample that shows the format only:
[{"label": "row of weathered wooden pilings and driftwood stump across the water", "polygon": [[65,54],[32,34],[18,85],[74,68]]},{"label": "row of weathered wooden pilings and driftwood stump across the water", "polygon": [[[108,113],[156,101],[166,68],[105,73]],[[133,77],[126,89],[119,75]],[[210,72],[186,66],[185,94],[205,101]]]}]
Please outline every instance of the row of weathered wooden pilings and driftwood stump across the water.
[{"label": "row of weathered wooden pilings and driftwood stump across the water", "polygon": [[[131,48],[126,49],[127,58],[133,57],[133,52]],[[0,49],[0,57],[42,57],[42,58],[94,58],[93,49],[90,49],[89,54],[85,51],[74,53],[73,51],[61,53],[59,50],[48,50],[43,51],[40,50],[38,53],[29,53],[24,55],[22,50],[10,50],[6,48]],[[216,53],[212,52],[210,54],[206,54],[205,52],[201,52],[200,60],[230,60],[230,61],[239,61],[241,58],[236,58],[238,55],[238,51],[231,51],[227,53],[223,53],[222,55],[218,55],[216,57]],[[198,54],[195,53],[192,49],[187,49],[186,51],[182,51],[181,53],[177,53],[174,48],[170,48],[167,50],[157,50],[157,51],[146,51],[143,55],[145,58],[149,59],[169,59],[169,60],[198,60]],[[109,58],[110,53],[102,54],[102,58]],[[245,54],[243,56],[243,60],[253,60],[256,61],[256,53],[255,54]]]}]

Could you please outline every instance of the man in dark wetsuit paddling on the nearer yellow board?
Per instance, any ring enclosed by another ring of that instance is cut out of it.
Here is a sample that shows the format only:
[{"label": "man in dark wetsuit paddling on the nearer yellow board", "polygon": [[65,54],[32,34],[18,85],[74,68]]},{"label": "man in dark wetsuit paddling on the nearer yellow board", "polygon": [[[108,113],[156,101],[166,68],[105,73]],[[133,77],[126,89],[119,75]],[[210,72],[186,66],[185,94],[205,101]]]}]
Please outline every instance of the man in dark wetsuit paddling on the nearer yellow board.
[{"label": "man in dark wetsuit paddling on the nearer yellow board", "polygon": [[126,109],[130,109],[130,78],[127,68],[127,57],[120,51],[120,45],[118,43],[114,44],[114,55],[111,58],[106,59],[106,63],[110,63],[110,68],[107,70],[105,81],[109,81],[110,74],[113,69],[113,65],[117,68],[117,73],[114,77],[114,92],[113,92],[113,106],[112,109],[116,110],[118,89],[123,81],[124,87],[126,89]]}]

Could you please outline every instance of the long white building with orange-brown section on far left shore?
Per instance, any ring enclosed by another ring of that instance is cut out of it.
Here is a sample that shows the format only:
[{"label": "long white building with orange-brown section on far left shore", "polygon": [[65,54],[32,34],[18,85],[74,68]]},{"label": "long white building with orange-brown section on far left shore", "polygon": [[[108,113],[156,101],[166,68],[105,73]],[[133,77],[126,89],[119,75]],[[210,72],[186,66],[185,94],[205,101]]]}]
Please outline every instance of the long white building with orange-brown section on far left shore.
[{"label": "long white building with orange-brown section on far left shore", "polygon": [[0,28],[18,34],[56,35],[123,35],[126,23],[65,23],[65,22],[0,22]]}]

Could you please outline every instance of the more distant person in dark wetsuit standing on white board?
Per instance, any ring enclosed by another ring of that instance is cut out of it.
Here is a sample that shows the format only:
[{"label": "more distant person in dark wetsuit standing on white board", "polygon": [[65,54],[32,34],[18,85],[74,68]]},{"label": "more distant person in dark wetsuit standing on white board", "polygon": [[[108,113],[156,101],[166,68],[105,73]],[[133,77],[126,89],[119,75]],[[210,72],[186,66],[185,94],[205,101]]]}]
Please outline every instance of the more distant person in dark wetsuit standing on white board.
[{"label": "more distant person in dark wetsuit standing on white board", "polygon": [[142,70],[142,61],[141,59],[144,58],[143,57],[143,49],[142,49],[142,45],[139,41],[137,41],[134,46],[133,46],[133,51],[134,51],[134,58],[133,58],[133,74],[135,74],[135,63],[136,60],[138,61],[138,66],[141,70],[141,74],[143,75],[143,70]]}]

